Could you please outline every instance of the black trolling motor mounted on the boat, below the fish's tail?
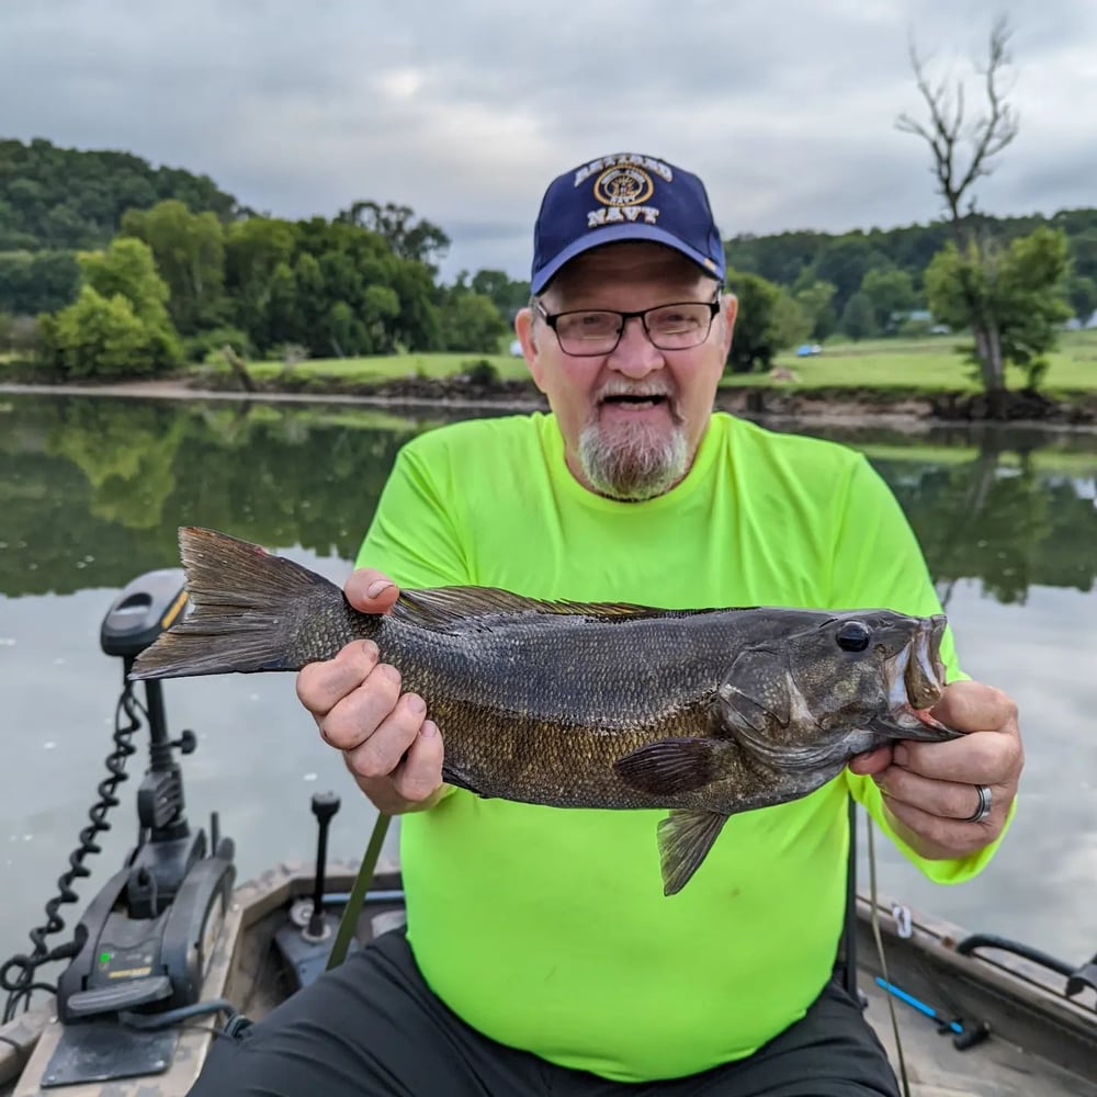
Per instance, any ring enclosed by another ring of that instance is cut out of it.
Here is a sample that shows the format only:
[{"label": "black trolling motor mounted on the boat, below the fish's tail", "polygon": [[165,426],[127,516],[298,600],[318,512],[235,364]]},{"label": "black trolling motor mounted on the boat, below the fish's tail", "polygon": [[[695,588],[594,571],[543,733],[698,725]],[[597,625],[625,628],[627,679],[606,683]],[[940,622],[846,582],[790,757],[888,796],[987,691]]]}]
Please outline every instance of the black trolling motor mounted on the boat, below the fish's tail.
[{"label": "black trolling motor mounted on the boat, below the fish's tail", "polygon": [[[182,570],[149,572],[125,587],[103,620],[100,646],[123,660],[120,705],[133,719],[126,732],[139,726],[136,713],[142,711],[128,680],[134,660],[185,614],[186,606]],[[190,731],[170,738],[162,686],[156,680],[144,686],[149,765],[137,790],[137,842],[88,904],[72,946],[61,952],[72,959],[57,983],[64,1033],[48,1085],[159,1073],[174,1044],[169,1027],[207,1011],[206,1006],[218,1007],[197,999],[231,902],[235,847],[219,834],[216,813],[208,840],[205,830],[188,822],[174,753],[191,754],[197,739]],[[117,803],[113,785],[124,780],[122,765],[133,747],[118,742],[117,732],[115,740],[118,750],[108,760],[112,778],[104,782],[111,788],[100,787],[102,800],[92,810],[93,826],[81,835],[77,860],[98,851],[94,835],[108,829],[103,816]],[[75,874],[88,870],[80,866]]]}]

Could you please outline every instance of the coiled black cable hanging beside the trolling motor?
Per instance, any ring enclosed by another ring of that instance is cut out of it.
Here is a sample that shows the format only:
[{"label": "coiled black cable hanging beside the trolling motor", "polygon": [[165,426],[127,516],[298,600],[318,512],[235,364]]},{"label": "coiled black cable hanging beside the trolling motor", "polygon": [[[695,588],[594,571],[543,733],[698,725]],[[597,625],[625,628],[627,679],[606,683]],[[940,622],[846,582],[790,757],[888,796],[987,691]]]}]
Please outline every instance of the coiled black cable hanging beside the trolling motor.
[{"label": "coiled black cable hanging beside the trolling motor", "polygon": [[[128,723],[123,723],[123,715],[128,717]],[[14,1018],[21,1003],[24,1010],[31,1008],[31,995],[35,991],[57,993],[54,984],[37,979],[39,968],[57,960],[67,960],[83,947],[84,942],[79,939],[81,936],[79,932],[73,934],[72,940],[53,949],[46,945],[46,937],[59,934],[65,928],[65,919],[58,912],[65,903],[79,901],[80,896],[72,885],[82,877],[91,875],[91,870],[83,862],[92,853],[102,852],[95,839],[111,829],[106,815],[112,807],[118,805],[115,793],[118,785],[127,779],[126,760],[137,750],[131,740],[142,726],[142,717],[148,723],[148,713],[134,695],[133,683],[123,676],[122,694],[114,710],[114,749],[105,760],[110,776],[99,783],[99,800],[88,812],[91,823],[80,832],[80,845],[69,855],[69,870],[58,879],[57,894],[46,903],[45,925],[37,926],[30,932],[34,951],[30,955],[25,953],[13,955],[0,966],[0,988],[8,992],[3,1024]]]}]

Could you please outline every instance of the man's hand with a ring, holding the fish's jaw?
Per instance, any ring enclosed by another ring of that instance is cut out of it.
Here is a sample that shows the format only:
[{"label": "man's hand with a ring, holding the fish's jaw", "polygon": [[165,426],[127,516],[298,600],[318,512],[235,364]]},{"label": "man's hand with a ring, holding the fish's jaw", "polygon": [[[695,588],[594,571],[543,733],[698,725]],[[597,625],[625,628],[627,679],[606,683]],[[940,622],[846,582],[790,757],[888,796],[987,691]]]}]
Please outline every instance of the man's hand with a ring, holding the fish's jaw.
[{"label": "man's hand with a ring, holding the fish's jaw", "polygon": [[[931,713],[968,734],[949,743],[881,747],[849,768],[872,777],[895,833],[918,853],[932,860],[964,857],[998,837],[1017,795],[1025,764],[1017,705],[1002,690],[958,681],[946,687]],[[980,806],[979,785],[991,790],[991,813],[965,822]]]}]

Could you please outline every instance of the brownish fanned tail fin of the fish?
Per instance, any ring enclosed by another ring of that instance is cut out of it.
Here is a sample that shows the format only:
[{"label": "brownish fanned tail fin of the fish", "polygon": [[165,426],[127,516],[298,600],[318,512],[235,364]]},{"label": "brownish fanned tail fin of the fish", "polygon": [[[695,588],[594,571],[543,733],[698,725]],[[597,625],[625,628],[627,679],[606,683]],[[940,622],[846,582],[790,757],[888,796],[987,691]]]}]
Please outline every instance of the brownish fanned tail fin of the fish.
[{"label": "brownish fanned tail fin of the fish", "polygon": [[301,621],[346,607],[333,583],[226,533],[183,527],[179,551],[190,612],[137,656],[132,679],[297,670],[312,661],[293,653]]}]

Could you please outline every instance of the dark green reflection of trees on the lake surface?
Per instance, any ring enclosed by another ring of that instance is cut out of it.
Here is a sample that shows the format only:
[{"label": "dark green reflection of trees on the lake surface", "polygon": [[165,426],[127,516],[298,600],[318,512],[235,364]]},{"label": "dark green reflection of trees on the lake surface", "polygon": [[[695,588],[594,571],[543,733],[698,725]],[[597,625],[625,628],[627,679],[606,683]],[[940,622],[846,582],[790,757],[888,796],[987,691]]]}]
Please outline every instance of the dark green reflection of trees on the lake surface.
[{"label": "dark green reflection of trees on the lake surface", "polygon": [[[0,416],[0,591],[117,587],[177,562],[176,529],[353,557],[397,449],[431,422],[361,408],[30,398]],[[1093,589],[1097,442],[1005,428],[828,431],[891,484],[948,597]]]}]

